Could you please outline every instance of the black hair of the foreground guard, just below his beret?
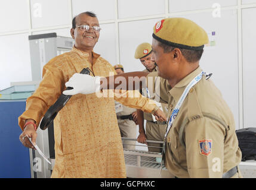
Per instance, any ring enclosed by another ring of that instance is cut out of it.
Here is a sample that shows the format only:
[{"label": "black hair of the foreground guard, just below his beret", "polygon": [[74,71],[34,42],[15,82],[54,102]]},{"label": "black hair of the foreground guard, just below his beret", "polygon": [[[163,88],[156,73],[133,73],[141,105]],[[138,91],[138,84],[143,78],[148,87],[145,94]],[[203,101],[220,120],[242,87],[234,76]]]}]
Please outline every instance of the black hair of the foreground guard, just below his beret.
[{"label": "black hair of the foreground guard, just below his beret", "polygon": [[165,43],[162,43],[159,41],[158,41],[158,45],[160,47],[164,48],[164,53],[169,53],[172,50],[174,50],[175,48],[180,49],[182,55],[187,60],[187,62],[192,62],[192,63],[197,62],[201,59],[201,56],[203,54],[203,49],[201,49],[201,50],[182,49],[179,47],[172,47],[172,46],[166,45]]}]

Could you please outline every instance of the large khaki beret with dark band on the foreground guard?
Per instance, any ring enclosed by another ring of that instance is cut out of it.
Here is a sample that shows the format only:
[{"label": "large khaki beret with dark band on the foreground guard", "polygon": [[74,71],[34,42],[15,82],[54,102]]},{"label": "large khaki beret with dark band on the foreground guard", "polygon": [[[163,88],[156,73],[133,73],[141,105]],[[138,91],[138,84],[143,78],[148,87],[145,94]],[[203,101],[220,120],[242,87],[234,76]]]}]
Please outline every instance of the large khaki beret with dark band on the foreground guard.
[{"label": "large khaki beret with dark band on the foreground guard", "polygon": [[208,35],[198,24],[186,18],[166,18],[155,24],[153,38],[172,47],[201,50]]}]

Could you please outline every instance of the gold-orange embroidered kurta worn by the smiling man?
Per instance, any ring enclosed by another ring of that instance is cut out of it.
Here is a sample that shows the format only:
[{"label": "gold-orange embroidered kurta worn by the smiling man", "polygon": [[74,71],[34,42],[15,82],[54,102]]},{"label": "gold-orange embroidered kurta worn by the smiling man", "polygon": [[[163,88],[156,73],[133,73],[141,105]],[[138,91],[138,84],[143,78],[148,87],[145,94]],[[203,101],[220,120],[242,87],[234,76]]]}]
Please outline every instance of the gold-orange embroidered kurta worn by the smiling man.
[{"label": "gold-orange embroidered kurta worn by the smiling man", "polygon": [[[54,104],[65,83],[75,72],[89,67],[95,75],[115,73],[113,66],[97,53],[72,48],[49,61],[35,93],[27,99],[26,111],[18,118],[23,129],[26,119],[38,125]],[[92,75],[92,74],[91,74]],[[123,105],[153,112],[156,105],[145,97],[97,97],[93,94],[72,96],[54,119],[55,166],[52,178],[125,178],[122,141],[115,114],[114,99]]]}]

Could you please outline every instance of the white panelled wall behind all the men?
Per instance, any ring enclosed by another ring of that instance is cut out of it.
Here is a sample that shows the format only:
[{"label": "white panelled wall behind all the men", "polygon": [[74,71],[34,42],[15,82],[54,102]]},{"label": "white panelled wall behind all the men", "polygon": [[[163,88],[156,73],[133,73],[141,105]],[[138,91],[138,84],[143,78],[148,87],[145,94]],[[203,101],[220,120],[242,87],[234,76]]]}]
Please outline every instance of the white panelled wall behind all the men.
[{"label": "white panelled wall behind all the men", "polygon": [[[219,7],[220,6],[220,7]],[[218,12],[220,9],[220,12]],[[56,32],[70,36],[72,18],[93,11],[100,21],[94,50],[125,71],[141,71],[135,48],[152,42],[161,18],[189,18],[209,33],[214,46],[205,47],[201,66],[235,116],[236,128],[256,126],[255,56],[256,0],[8,0],[0,2],[0,89],[10,82],[30,81],[28,36]],[[211,32],[215,31],[215,36]]]}]

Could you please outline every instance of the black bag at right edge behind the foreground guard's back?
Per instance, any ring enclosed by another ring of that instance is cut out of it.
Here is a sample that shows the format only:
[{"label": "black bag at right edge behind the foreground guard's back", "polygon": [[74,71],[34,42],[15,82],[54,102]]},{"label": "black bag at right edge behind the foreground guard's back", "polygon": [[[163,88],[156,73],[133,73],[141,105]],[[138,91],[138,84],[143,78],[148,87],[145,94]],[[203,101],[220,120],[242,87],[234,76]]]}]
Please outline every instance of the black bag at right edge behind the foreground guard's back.
[{"label": "black bag at right edge behind the foreground guard's back", "polygon": [[236,135],[242,151],[242,161],[256,160],[256,128],[236,130]]}]

